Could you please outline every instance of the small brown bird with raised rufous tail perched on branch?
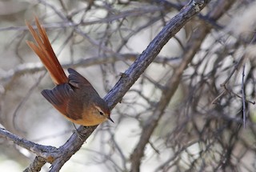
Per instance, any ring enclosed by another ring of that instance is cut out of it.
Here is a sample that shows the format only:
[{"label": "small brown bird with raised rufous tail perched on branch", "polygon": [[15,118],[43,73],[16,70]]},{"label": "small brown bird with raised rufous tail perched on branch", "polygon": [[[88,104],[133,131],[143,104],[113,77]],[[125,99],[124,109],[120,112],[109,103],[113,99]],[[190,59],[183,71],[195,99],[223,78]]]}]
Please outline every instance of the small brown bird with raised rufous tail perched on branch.
[{"label": "small brown bird with raised rufous tail perched on branch", "polygon": [[110,120],[110,108],[90,82],[76,70],[68,68],[66,76],[50,44],[46,30],[37,17],[34,18],[38,32],[29,22],[26,26],[34,38],[27,45],[38,55],[50,74],[55,86],[51,90],[42,90],[42,95],[65,118],[82,126],[97,126]]}]

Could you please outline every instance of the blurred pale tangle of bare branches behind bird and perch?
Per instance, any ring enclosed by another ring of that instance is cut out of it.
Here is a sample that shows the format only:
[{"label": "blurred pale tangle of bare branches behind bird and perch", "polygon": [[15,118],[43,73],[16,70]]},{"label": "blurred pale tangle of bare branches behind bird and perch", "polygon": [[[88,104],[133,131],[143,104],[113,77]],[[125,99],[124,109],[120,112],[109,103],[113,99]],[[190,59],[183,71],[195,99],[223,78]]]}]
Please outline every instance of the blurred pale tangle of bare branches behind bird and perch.
[{"label": "blurred pale tangle of bare branches behind bird and perch", "polygon": [[[65,70],[78,70],[103,98],[187,2],[1,0],[0,126],[56,147],[74,132],[40,93],[54,84],[26,45],[25,21],[38,16]],[[255,8],[253,0],[211,1],[62,171],[256,171]],[[0,143],[1,171],[33,162],[28,150]]]}]

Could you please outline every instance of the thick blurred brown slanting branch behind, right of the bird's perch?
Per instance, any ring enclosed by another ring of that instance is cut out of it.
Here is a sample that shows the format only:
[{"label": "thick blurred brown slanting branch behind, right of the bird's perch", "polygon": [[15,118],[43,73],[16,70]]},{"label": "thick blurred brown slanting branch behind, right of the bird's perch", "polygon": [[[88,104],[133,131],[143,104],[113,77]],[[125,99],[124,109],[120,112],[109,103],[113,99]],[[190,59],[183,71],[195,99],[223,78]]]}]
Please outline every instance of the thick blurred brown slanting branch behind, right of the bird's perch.
[{"label": "thick blurred brown slanting branch behind, right of the bird's perch", "polygon": [[[210,11],[209,16],[211,18],[215,20],[220,18],[220,16],[226,12],[226,9],[230,8],[232,1],[225,2],[225,0],[221,0],[215,5],[220,5],[221,3],[223,5],[222,8],[218,8],[214,13]],[[190,6],[193,6],[193,4],[190,4]],[[198,30],[196,30],[192,35],[192,38],[190,38],[190,42],[187,43],[184,54],[182,54],[183,61],[180,66],[174,70],[173,76],[166,82],[166,89],[162,91],[162,96],[158,102],[158,106],[154,110],[152,118],[149,118],[145,122],[142,128],[141,138],[138,141],[137,146],[135,146],[134,152],[130,156],[132,172],[139,171],[146,144],[150,141],[151,134],[153,134],[155,127],[158,125],[158,121],[164,114],[166,106],[169,104],[170,99],[177,90],[179,82],[182,79],[183,71],[194,58],[194,54],[198,52],[204,38],[206,38],[206,35],[210,32],[210,29],[210,26],[207,27],[204,24],[201,24],[201,26],[198,26]]]}]

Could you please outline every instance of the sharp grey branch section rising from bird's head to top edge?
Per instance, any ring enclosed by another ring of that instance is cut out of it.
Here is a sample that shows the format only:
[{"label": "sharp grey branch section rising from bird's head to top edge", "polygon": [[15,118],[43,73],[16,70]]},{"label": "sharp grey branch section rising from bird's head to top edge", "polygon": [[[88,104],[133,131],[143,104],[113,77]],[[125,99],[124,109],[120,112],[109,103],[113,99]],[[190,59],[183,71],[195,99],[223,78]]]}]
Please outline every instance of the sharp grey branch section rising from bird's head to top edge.
[{"label": "sharp grey branch section rising from bird's head to top edge", "polygon": [[146,50],[144,50],[137,60],[122,74],[122,77],[114,86],[114,89],[106,95],[106,101],[111,108],[118,102],[121,102],[122,97],[146,70],[147,66],[154,61],[154,58],[157,57],[162,47],[166,45],[170,38],[177,34],[178,31],[182,29],[182,26],[195,14],[198,14],[208,2],[210,1],[190,1],[188,5],[182,8],[182,10],[162,28],[159,34],[150,42],[150,45],[146,47]]}]

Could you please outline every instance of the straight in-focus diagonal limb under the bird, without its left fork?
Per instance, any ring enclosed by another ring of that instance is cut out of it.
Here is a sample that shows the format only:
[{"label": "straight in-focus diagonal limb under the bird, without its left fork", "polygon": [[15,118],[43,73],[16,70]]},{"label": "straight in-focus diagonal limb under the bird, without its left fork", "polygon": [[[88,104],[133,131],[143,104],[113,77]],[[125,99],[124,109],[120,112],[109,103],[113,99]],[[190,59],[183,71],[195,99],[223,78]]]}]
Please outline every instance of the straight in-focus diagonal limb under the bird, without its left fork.
[{"label": "straight in-focus diagonal limb under the bird, without its left fork", "polygon": [[[108,102],[111,109],[113,109],[118,102],[121,102],[122,97],[130,87],[133,86],[134,82],[138,80],[140,75],[146,70],[147,66],[154,61],[154,58],[157,57],[160,50],[162,50],[162,47],[166,45],[166,42],[177,34],[178,31],[182,29],[182,26],[184,26],[195,14],[198,14],[208,2],[210,2],[210,0],[190,1],[176,16],[174,16],[174,18],[170,20],[170,22],[166,24],[166,26],[162,28],[159,34],[152,40],[152,42],[150,42],[150,45],[147,46],[146,50],[144,50],[137,60],[126,70],[125,73],[122,74],[122,77],[114,88],[106,95],[105,100]],[[78,131],[82,132],[82,135],[84,136],[83,139],[86,140],[96,127],[97,126],[85,128],[84,126],[80,126]],[[66,144],[59,148],[65,156],[57,158],[52,163],[52,169],[50,171],[60,170],[65,162],[80,149],[82,144],[83,141],[78,137],[78,135],[73,134]]]}]

